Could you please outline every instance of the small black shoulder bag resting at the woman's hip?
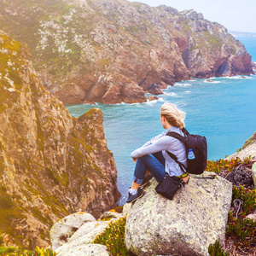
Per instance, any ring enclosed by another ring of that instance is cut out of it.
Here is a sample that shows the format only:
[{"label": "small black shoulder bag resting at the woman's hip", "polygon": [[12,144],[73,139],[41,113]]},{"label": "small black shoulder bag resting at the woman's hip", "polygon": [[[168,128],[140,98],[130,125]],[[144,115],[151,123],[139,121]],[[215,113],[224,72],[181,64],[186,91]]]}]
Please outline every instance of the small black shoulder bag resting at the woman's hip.
[{"label": "small black shoulder bag resting at the woman's hip", "polygon": [[165,196],[167,199],[172,200],[173,196],[177,192],[177,189],[181,189],[183,186],[183,180],[177,181],[176,177],[171,177],[166,172],[166,176],[162,179],[160,183],[155,187],[155,191]]}]

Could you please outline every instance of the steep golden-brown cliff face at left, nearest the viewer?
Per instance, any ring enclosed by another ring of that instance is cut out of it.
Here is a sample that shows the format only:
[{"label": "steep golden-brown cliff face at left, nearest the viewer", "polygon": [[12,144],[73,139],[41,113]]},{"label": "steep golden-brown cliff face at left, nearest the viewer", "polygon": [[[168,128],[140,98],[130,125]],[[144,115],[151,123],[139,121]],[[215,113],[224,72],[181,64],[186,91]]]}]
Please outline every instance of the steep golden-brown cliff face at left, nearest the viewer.
[{"label": "steep golden-brown cliff face at left, nearest the viewer", "polygon": [[99,216],[119,197],[102,112],[73,118],[40,84],[23,44],[0,32],[0,236],[49,245],[58,218]]}]

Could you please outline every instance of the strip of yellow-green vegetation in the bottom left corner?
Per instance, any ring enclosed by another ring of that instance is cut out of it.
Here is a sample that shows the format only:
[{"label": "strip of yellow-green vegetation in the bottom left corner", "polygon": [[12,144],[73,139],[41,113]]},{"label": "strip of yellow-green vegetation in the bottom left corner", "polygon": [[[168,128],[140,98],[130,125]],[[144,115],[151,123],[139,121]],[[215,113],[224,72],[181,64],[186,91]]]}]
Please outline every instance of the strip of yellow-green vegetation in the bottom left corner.
[{"label": "strip of yellow-green vegetation in the bottom left corner", "polygon": [[46,247],[36,247],[33,251],[28,251],[17,247],[0,247],[2,256],[55,256],[56,253]]}]

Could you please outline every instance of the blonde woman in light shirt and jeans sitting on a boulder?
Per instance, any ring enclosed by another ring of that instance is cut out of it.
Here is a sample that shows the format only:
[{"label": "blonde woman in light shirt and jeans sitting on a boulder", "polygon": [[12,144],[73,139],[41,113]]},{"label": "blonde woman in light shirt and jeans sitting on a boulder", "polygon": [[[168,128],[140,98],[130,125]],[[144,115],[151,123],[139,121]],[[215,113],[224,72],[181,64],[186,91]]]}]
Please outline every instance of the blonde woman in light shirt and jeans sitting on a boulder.
[{"label": "blonde woman in light shirt and jeans sitting on a boulder", "polygon": [[183,127],[186,114],[177,109],[172,103],[165,103],[160,108],[160,121],[163,131],[160,135],[153,137],[142,148],[137,148],[131,153],[131,158],[136,162],[133,183],[129,189],[126,202],[136,201],[144,195],[143,189],[139,188],[143,183],[148,183],[154,177],[159,183],[165,177],[166,172],[177,180],[189,182],[189,173],[184,173],[180,166],[173,160],[166,151],[177,156],[177,160],[187,166],[186,149],[182,142],[174,137],[166,136],[169,131],[175,131],[184,136]]}]

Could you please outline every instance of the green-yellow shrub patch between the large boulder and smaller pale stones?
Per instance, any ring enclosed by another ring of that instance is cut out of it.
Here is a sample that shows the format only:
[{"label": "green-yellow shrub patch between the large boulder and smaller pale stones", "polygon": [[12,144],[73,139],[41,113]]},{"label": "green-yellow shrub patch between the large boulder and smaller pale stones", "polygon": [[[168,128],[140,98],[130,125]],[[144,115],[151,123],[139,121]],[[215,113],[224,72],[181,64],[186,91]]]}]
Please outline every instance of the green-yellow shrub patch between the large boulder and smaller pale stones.
[{"label": "green-yellow shrub patch between the large boulder and smaller pale stones", "polygon": [[96,236],[92,243],[105,245],[113,256],[131,255],[125,247],[125,223],[126,217],[110,222],[106,230]]}]

